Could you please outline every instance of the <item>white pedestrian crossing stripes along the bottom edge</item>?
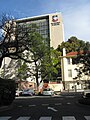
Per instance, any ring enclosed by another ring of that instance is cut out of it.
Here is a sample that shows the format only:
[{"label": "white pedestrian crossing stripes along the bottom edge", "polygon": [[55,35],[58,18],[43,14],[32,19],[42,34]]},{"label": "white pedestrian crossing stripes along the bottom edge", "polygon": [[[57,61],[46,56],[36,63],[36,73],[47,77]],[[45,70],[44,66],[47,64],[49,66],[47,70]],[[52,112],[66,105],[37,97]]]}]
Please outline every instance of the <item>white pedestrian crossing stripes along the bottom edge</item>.
[{"label": "white pedestrian crossing stripes along the bottom edge", "polygon": [[[0,120],[11,120],[12,116],[2,116],[0,117]],[[53,117],[52,116],[41,116],[38,120],[52,120]],[[31,117],[25,117],[25,116],[20,116],[18,118],[16,118],[16,120],[32,120]],[[34,119],[35,120],[35,119]],[[53,119],[54,120],[54,119]],[[62,118],[60,118],[60,120],[79,120],[76,119],[75,116],[62,116]],[[90,116],[84,116],[84,120],[90,120]]]}]

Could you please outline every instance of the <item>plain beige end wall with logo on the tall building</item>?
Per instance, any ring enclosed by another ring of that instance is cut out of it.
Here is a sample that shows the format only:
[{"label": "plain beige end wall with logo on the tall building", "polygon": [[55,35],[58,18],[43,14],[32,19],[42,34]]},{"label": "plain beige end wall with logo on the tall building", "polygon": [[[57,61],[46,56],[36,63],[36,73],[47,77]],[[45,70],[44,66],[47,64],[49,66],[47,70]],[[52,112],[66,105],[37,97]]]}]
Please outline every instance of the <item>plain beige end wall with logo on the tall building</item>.
[{"label": "plain beige end wall with logo on the tall building", "polygon": [[[55,20],[54,20],[55,19]],[[60,13],[49,15],[50,46],[57,48],[64,41],[64,28]]]}]

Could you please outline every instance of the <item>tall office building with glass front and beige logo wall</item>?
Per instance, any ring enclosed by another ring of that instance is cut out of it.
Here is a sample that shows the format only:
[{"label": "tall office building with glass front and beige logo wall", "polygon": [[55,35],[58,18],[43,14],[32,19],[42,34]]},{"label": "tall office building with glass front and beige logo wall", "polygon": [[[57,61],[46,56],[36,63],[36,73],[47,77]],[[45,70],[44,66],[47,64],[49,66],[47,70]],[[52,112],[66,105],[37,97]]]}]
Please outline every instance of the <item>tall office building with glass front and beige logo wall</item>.
[{"label": "tall office building with glass front and beige logo wall", "polygon": [[46,14],[16,20],[17,24],[36,24],[37,32],[49,38],[50,47],[56,49],[64,41],[62,16],[60,13]]}]

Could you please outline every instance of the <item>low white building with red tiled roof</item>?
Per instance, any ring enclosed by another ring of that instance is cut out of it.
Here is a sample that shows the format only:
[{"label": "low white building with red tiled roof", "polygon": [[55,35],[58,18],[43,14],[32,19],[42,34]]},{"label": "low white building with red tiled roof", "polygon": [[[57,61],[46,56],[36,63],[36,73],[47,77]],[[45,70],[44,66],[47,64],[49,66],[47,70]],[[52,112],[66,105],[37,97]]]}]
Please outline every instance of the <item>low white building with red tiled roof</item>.
[{"label": "low white building with red tiled roof", "polygon": [[62,82],[65,90],[79,91],[83,90],[90,84],[90,76],[82,74],[82,77],[77,77],[77,70],[82,64],[73,64],[72,59],[77,55],[77,52],[66,54],[63,49],[61,57]]}]

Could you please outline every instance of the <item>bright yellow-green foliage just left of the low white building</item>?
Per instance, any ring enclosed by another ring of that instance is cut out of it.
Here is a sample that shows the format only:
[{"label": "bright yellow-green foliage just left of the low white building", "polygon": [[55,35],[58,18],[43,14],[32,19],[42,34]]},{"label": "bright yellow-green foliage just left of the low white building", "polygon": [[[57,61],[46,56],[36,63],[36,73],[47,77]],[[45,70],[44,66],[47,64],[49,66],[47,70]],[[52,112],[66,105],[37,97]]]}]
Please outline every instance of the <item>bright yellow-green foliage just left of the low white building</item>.
[{"label": "bright yellow-green foliage just left of the low white building", "polygon": [[58,77],[58,70],[60,69],[60,52],[51,48],[50,55],[45,56],[42,61],[42,78],[48,81],[56,81]]}]

